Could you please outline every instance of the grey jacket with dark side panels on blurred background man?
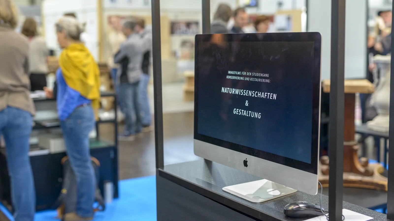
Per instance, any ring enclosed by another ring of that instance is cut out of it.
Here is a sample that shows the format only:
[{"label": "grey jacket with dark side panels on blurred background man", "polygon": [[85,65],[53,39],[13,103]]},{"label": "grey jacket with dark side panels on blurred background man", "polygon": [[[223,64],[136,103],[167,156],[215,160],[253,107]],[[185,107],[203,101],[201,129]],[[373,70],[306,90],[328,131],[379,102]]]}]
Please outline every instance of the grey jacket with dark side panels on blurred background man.
[{"label": "grey jacket with dark side panels on blurred background man", "polygon": [[[113,62],[121,64],[124,61],[128,62],[127,65],[127,78],[129,83],[136,83],[141,78],[142,70],[142,55],[143,55],[143,41],[138,34],[131,34],[128,36],[125,42],[123,42],[119,48],[119,52],[116,53],[113,58]],[[117,82],[120,82],[123,65],[118,68],[117,71]]]}]

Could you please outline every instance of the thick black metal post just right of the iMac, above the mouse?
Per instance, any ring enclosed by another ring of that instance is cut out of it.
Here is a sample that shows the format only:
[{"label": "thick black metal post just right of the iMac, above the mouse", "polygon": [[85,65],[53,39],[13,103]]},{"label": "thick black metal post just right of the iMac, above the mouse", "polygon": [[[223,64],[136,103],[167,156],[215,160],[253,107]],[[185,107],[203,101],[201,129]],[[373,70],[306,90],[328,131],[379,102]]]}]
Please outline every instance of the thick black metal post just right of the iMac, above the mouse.
[{"label": "thick black metal post just right of the iMac, above the mouse", "polygon": [[342,220],[346,0],[331,1],[329,220]]}]

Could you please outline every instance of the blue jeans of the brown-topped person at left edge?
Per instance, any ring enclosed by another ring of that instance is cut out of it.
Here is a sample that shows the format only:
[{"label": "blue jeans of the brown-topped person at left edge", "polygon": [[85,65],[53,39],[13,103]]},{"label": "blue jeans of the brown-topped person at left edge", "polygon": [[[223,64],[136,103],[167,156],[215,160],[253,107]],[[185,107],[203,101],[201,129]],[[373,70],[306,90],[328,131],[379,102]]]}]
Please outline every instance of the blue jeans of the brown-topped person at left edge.
[{"label": "blue jeans of the brown-topped person at left edge", "polygon": [[32,123],[32,114],[26,110],[6,107],[0,111],[0,134],[6,142],[15,221],[33,221],[35,214],[35,188],[29,158]]}]

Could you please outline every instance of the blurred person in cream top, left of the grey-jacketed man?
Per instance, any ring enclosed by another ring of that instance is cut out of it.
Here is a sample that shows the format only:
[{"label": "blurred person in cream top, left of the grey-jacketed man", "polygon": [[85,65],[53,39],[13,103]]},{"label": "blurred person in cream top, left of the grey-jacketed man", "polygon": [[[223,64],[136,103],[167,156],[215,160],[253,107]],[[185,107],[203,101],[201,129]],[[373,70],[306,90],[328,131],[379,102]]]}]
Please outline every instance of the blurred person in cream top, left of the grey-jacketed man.
[{"label": "blurred person in cream top, left of the grey-jacketed man", "polygon": [[121,44],[126,41],[126,37],[122,32],[121,19],[117,16],[110,17],[110,26],[112,27],[112,31],[108,34],[108,68],[111,70],[111,77],[113,80],[113,86],[115,88],[115,92],[117,94],[118,103],[119,102],[119,85],[116,81],[116,73],[119,68],[119,64],[115,64],[113,62],[113,56],[119,51],[119,47]]}]

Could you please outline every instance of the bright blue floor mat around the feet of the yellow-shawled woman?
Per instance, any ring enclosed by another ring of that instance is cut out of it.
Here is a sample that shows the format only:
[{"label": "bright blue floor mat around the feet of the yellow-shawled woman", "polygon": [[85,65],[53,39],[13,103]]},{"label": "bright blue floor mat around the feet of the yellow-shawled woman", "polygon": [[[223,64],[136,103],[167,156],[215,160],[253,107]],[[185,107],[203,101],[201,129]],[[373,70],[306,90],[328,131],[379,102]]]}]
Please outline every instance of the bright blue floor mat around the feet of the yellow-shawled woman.
[{"label": "bright blue floor mat around the feet of the yellow-shawled woman", "polygon": [[[37,212],[35,221],[59,221],[56,211]],[[94,221],[156,221],[156,177],[119,181],[119,198],[96,212]]]}]

